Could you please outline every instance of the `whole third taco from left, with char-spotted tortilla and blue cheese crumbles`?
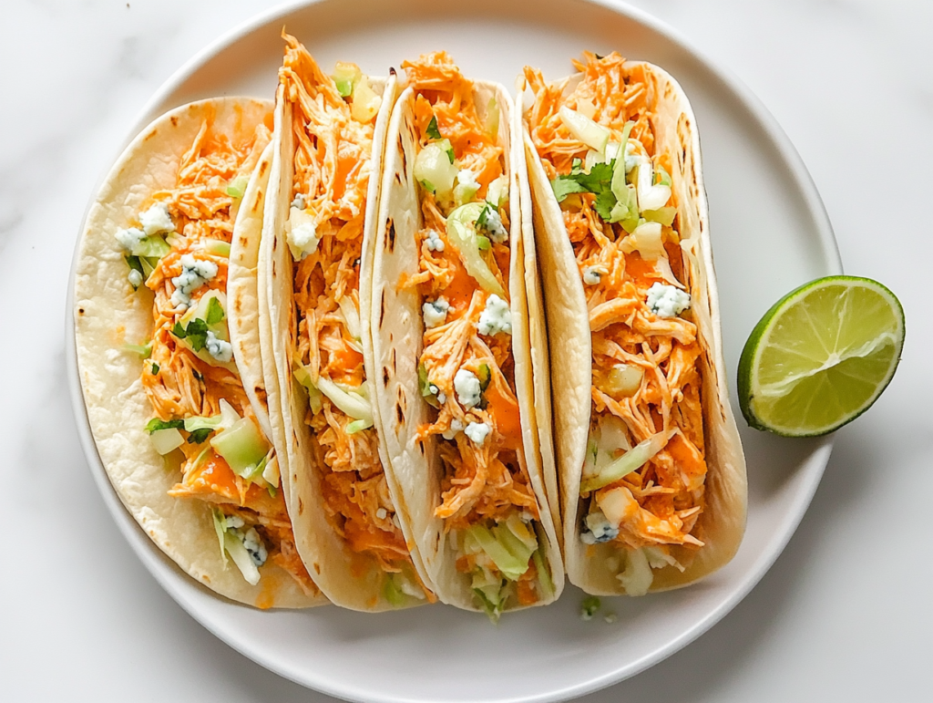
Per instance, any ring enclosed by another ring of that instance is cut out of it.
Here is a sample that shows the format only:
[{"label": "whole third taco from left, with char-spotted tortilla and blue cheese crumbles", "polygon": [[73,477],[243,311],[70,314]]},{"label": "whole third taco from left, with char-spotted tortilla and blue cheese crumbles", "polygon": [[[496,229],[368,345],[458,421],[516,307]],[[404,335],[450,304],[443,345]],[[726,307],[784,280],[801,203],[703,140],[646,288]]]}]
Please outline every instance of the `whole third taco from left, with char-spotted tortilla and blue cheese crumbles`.
[{"label": "whole third taco from left, with char-spotted tortilla and blue cheese crumbles", "polygon": [[495,618],[564,585],[536,426],[531,346],[544,343],[528,323],[521,143],[501,86],[444,52],[402,66],[369,311],[377,419],[426,579]]}]

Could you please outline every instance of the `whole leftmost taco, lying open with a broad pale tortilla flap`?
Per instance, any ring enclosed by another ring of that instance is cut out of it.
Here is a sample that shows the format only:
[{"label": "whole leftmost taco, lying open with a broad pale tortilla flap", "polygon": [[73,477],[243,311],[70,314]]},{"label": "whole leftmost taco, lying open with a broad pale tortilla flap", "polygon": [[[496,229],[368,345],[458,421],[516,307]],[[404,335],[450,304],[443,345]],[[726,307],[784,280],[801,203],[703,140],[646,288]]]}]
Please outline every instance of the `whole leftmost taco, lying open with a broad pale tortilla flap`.
[{"label": "whole leftmost taco, lying open with a broad pale tortilla flap", "polygon": [[126,148],[91,206],[75,281],[94,441],[178,566],[260,608],[326,602],[279,486],[258,359],[256,260],[272,103],[183,105]]}]

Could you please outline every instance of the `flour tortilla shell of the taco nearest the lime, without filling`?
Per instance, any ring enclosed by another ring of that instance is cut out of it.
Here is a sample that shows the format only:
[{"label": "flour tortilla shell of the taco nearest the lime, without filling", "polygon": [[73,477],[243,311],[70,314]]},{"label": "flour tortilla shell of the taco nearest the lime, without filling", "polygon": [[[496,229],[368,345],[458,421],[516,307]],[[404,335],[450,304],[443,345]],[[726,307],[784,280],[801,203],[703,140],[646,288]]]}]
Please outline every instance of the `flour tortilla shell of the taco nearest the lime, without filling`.
[{"label": "flour tortilla shell of the taco nearest the lime, without filling", "polygon": [[[705,542],[699,551],[673,547],[672,554],[687,566],[654,570],[652,591],[687,585],[727,564],[745,532],[747,484],[745,457],[726,388],[725,361],[713,252],[709,238],[706,195],[700,164],[700,140],[687,96],[675,79],[657,66],[644,64],[653,93],[656,149],[672,156],[674,198],[684,251],[684,283],[690,310],[697,323],[703,354],[703,430],[706,443],[706,506],[698,525]],[[568,79],[564,94],[574,90],[579,76]],[[618,554],[611,544],[588,547],[580,541],[582,504],[580,476],[590,429],[592,344],[583,284],[564,218],[535,146],[522,126],[528,176],[534,195],[532,218],[544,282],[551,359],[559,359],[560,373],[550,379],[554,401],[554,439],[562,490],[564,557],[571,583],[600,596],[623,595],[610,569],[609,557]],[[526,236],[530,237],[530,233]],[[544,391],[543,388],[540,389]],[[618,562],[618,559],[616,560]],[[624,564],[622,565],[624,566]]]}]

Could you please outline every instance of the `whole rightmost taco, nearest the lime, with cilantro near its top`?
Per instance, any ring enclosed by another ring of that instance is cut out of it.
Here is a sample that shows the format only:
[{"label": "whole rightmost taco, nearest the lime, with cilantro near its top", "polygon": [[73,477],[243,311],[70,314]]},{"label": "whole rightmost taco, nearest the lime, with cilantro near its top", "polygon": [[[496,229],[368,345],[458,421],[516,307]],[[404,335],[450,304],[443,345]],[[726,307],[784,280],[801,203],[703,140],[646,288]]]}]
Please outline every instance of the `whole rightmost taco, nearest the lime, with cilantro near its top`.
[{"label": "whole rightmost taco, nearest the lime, with cilantro near its top", "polygon": [[725,565],[745,529],[700,145],[657,66],[585,53],[523,124],[572,583],[643,595]]}]

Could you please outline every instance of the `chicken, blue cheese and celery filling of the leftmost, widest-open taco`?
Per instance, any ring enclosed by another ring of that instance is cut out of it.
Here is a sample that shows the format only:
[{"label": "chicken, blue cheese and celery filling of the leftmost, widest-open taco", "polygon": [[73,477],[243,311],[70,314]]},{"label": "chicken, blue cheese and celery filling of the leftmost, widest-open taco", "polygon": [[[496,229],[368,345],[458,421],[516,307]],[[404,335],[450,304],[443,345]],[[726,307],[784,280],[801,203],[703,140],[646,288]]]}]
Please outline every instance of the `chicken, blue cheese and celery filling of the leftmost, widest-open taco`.
[{"label": "chicken, blue cheese and celery filling of the leftmost, widest-open taco", "polygon": [[118,230],[127,278],[153,296],[152,339],[126,350],[144,359],[141,380],[155,415],[146,432],[160,455],[181,462],[169,495],[211,505],[224,563],[232,560],[248,583],[271,562],[314,596],[227,323],[233,223],[270,139],[260,123],[243,143],[232,142],[209,117],[182,156],[174,188],[152,193],[136,221]]}]

